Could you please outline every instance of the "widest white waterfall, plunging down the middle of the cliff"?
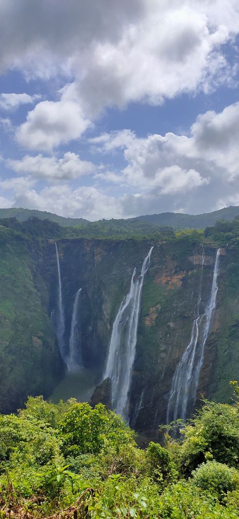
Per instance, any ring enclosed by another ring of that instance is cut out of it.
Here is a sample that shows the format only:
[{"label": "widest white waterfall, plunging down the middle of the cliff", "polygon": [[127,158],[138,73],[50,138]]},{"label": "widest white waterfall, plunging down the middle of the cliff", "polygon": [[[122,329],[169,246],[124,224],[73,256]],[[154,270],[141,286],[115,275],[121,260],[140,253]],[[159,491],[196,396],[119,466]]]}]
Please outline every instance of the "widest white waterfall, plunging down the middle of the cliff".
[{"label": "widest white waterfall, plunging down the middle of the cliff", "polygon": [[132,367],[135,361],[143,279],[149,268],[152,250],[153,247],[144,258],[139,278],[136,277],[136,268],[134,269],[130,290],[118,309],[104,374],[104,378],[110,377],[112,380],[112,407],[126,420],[128,419]]}]

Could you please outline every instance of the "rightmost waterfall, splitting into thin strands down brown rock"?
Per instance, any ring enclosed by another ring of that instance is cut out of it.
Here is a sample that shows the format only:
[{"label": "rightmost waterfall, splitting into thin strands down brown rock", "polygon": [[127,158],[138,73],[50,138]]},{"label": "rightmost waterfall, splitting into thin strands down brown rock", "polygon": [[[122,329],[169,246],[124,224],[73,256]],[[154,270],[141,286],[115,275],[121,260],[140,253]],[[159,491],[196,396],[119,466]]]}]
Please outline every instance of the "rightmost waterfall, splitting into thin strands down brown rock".
[{"label": "rightmost waterfall, splitting into thin strands down brown rock", "polygon": [[[197,387],[204,361],[205,344],[210,330],[213,311],[216,307],[219,258],[220,249],[218,249],[216,254],[213,282],[211,284],[209,300],[204,313],[200,314],[200,306],[202,302],[203,267],[205,261],[205,251],[204,247],[202,246],[201,276],[196,305],[196,317],[192,324],[190,342],[184,350],[184,353],[182,354],[182,357],[176,368],[174,377],[172,378],[167,406],[167,424],[169,424],[171,420],[175,421],[178,418],[185,420],[187,418],[189,399],[193,401],[194,405],[196,402]],[[198,340],[199,337],[201,337],[200,340]]]}]

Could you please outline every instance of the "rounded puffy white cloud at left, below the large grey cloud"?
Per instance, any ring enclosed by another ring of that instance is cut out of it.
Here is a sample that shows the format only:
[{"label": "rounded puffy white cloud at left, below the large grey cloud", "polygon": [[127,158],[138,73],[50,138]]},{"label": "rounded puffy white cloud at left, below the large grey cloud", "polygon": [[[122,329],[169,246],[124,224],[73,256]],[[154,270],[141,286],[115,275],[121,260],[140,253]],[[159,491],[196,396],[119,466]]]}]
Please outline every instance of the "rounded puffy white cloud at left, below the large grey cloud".
[{"label": "rounded puffy white cloud at left, below the large grey cloud", "polygon": [[62,143],[78,139],[89,125],[74,101],[42,101],[28,113],[16,139],[24,148],[50,152]]}]

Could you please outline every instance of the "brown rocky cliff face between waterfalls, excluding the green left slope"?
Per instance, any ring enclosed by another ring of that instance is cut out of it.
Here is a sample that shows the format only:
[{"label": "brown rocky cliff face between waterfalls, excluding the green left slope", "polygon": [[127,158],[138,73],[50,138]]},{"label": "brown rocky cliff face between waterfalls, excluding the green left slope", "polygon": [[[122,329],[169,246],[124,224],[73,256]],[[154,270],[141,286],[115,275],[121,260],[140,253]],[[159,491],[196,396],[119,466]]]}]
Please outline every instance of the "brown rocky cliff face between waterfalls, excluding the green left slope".
[{"label": "brown rocky cliff face between waterfalls, excluding the green left slope", "polygon": [[[59,240],[66,339],[73,299],[82,288],[81,331],[84,365],[102,380],[117,309],[127,294],[134,267],[141,268],[152,243],[135,240]],[[210,296],[217,248],[205,247],[202,303]],[[187,239],[154,244],[144,279],[136,359],[130,394],[131,425],[149,436],[166,420],[172,377],[191,336],[202,275],[202,247]],[[56,304],[57,272],[54,243],[48,242],[44,272],[48,271],[51,309]],[[217,309],[205,347],[198,385],[202,397],[229,399],[229,381],[237,376],[238,276],[233,252],[221,250]],[[100,392],[98,391],[98,398]],[[140,406],[139,406],[140,404]],[[192,405],[192,403],[191,403]]]}]

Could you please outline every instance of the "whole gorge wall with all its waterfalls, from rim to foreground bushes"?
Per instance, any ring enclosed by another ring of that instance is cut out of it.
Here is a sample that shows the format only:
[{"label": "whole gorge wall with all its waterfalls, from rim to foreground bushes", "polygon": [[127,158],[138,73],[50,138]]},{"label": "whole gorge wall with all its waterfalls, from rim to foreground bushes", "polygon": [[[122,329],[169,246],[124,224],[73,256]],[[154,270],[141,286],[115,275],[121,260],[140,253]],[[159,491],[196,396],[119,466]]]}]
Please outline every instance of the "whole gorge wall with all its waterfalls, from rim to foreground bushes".
[{"label": "whole gorge wall with all its waterfalls, from rim to foreground bushes", "polygon": [[111,378],[113,407],[146,439],[202,397],[228,401],[239,364],[235,240],[163,230],[26,239],[9,228],[0,238],[1,412],[49,397],[78,367],[99,400]]}]

